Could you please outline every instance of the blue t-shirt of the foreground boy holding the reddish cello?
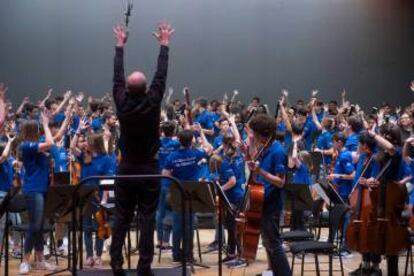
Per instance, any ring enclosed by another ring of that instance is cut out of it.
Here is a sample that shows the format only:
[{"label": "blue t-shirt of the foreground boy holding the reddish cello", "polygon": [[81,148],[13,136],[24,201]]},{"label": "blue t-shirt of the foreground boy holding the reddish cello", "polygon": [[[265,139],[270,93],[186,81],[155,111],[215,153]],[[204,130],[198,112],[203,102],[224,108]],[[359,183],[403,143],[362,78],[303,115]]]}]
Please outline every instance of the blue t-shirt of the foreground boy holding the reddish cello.
[{"label": "blue t-shirt of the foreground boy holding the reddish cello", "polygon": [[[265,150],[259,159],[260,168],[270,174],[286,174],[287,154],[282,144],[274,141],[273,144]],[[280,189],[268,182],[263,176],[258,176],[257,181],[263,183],[265,187],[265,200],[263,212],[281,211],[283,209],[283,189]]]}]

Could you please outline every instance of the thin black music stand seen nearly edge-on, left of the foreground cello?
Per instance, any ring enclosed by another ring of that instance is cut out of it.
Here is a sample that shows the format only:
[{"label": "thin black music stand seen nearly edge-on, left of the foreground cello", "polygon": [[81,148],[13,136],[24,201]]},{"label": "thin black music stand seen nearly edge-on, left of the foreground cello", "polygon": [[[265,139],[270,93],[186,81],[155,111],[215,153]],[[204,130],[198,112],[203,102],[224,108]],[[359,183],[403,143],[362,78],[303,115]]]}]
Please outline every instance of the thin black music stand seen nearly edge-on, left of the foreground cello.
[{"label": "thin black music stand seen nearly edge-on, left of the foreground cello", "polygon": [[[230,214],[234,217],[236,217],[236,210],[233,209],[229,199],[227,198],[226,194],[224,193],[223,189],[221,188],[220,182],[219,181],[215,181],[215,182],[208,182],[207,183],[209,185],[210,190],[212,191],[212,193],[215,196],[219,197],[219,204],[218,204],[218,209],[219,209],[219,216],[218,216],[218,227],[219,229],[222,228],[223,226],[223,216],[221,214],[223,214],[223,211],[226,210],[227,212],[230,212]],[[223,237],[222,235],[222,231],[219,231],[219,249],[218,249],[218,275],[221,276],[223,275]]]}]

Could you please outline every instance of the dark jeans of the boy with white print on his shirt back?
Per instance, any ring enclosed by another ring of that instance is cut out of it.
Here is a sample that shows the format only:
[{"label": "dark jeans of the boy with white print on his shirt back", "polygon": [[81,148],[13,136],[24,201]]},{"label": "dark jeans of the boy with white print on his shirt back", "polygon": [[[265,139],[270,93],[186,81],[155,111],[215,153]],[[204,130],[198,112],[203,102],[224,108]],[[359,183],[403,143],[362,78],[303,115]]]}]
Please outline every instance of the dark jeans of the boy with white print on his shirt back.
[{"label": "dark jeans of the boy with white print on his shirt back", "polygon": [[[186,239],[187,239],[187,248],[184,248],[184,252],[181,251],[181,242],[183,240],[183,228],[181,225],[182,215],[181,213],[173,212],[173,258],[192,258],[193,257],[193,225],[194,225],[194,214],[191,216],[187,213],[186,218]],[[191,223],[190,223],[191,222]]]}]

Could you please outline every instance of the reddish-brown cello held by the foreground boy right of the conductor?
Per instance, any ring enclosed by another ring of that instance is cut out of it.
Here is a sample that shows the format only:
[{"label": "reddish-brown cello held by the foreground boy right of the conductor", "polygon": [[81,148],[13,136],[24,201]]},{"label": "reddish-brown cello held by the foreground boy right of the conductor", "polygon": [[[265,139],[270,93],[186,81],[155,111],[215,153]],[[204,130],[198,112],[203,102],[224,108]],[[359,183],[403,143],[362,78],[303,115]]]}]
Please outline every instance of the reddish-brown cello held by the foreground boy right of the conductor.
[{"label": "reddish-brown cello held by the foreground boy right of the conductor", "polygon": [[[270,137],[264,145],[250,158],[249,149],[246,151],[246,159],[249,162],[257,162],[265,149],[271,144],[273,137]],[[256,259],[259,245],[260,228],[262,224],[262,212],[264,204],[264,186],[256,180],[253,172],[249,175],[246,184],[243,204],[237,211],[237,235],[240,239],[241,257],[247,262]]]}]

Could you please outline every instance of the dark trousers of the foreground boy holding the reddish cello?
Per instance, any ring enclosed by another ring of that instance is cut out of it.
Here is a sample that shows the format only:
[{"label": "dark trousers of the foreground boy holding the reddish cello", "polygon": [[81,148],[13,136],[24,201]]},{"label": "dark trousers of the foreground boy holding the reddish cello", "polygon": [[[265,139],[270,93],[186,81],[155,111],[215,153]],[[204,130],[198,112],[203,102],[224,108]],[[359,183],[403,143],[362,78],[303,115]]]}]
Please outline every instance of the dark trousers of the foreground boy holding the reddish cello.
[{"label": "dark trousers of the foreground boy holding the reddish cello", "polygon": [[262,240],[274,276],[290,276],[292,272],[279,236],[280,211],[263,212]]}]

